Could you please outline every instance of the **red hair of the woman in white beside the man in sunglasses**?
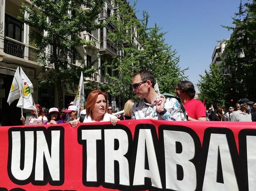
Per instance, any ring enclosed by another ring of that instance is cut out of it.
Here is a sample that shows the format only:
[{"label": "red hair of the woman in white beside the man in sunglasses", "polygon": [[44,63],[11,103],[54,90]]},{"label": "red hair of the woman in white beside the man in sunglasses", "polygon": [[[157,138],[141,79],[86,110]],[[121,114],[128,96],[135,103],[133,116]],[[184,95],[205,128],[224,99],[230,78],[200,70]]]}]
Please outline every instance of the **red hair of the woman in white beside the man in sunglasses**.
[{"label": "red hair of the woman in white beside the man in sunglasses", "polygon": [[[86,109],[86,115],[89,115],[89,113],[91,113],[91,110],[93,109],[93,107],[95,106],[96,104],[96,101],[97,101],[97,98],[98,98],[98,95],[103,95],[105,97],[105,100],[107,100],[107,95],[106,93],[104,93],[103,91],[100,91],[100,90],[94,90],[94,91],[91,91],[87,97],[87,100],[86,100],[86,106],[85,106],[85,109]],[[107,112],[107,106],[108,104],[106,103],[106,108],[105,108],[105,113]]]}]

